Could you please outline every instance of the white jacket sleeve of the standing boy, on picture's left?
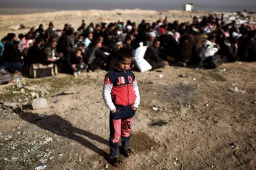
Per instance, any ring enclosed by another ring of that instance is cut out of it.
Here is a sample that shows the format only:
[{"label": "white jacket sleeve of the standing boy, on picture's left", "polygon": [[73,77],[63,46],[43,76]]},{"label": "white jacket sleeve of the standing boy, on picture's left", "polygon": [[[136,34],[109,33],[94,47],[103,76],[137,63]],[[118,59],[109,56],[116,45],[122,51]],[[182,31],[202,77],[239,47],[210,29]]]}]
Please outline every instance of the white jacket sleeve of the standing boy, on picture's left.
[{"label": "white jacket sleeve of the standing boy, on picture's left", "polygon": [[103,96],[103,100],[104,100],[106,107],[110,111],[113,111],[114,109],[116,109],[116,106],[114,106],[114,103],[111,98],[112,88],[113,88],[113,83],[109,80],[109,77],[106,75],[105,80],[104,80],[102,96]]}]

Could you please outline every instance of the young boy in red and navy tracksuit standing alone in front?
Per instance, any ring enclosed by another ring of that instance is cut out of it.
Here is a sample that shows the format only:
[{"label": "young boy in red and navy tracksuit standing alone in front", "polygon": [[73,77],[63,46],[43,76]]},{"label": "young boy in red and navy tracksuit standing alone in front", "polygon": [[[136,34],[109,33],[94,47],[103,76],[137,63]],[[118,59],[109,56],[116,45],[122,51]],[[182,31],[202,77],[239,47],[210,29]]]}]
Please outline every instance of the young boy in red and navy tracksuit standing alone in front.
[{"label": "young boy in red and navy tracksuit standing alone in front", "polygon": [[134,73],[130,71],[132,54],[129,49],[121,48],[117,52],[114,69],[105,75],[103,100],[110,110],[109,116],[109,161],[113,166],[121,166],[119,156],[119,138],[121,153],[133,155],[129,146],[130,132],[135,112],[140,104],[140,94]]}]

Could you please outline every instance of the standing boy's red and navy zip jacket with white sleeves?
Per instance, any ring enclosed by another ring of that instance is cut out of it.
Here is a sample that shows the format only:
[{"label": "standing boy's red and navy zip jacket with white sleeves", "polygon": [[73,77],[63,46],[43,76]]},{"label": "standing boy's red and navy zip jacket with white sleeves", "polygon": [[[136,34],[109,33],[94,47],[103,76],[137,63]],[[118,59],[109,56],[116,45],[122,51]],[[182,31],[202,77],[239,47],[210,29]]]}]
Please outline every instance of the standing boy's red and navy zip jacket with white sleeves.
[{"label": "standing boy's red and navy zip jacket with white sleeves", "polygon": [[114,68],[105,75],[103,86],[103,100],[110,111],[116,106],[132,105],[138,108],[140,93],[134,73],[130,70],[122,71]]}]

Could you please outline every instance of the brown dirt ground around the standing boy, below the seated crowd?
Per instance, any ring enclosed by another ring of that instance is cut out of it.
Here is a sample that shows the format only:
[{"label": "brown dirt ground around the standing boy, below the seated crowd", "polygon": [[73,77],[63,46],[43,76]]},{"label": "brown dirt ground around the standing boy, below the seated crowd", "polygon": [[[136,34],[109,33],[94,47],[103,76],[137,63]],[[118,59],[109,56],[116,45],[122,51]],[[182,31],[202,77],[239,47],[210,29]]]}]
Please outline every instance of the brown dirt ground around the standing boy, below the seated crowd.
[{"label": "brown dirt ground around the standing boy, below the seated crowd", "polygon": [[[135,72],[141,98],[130,139],[135,155],[121,156],[121,168],[106,160],[105,74],[1,85],[0,169],[256,169],[256,62]],[[31,108],[35,94],[46,98],[46,108]]]}]

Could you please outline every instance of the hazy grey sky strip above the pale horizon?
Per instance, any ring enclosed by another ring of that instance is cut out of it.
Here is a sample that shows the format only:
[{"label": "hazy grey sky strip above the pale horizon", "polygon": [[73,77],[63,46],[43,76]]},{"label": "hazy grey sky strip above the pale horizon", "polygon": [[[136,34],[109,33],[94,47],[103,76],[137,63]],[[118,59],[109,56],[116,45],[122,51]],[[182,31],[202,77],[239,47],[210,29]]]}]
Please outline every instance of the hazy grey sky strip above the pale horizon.
[{"label": "hazy grey sky strip above the pale horizon", "polygon": [[0,0],[0,8],[40,8],[61,10],[88,10],[88,9],[153,9],[166,11],[182,9],[186,2],[194,4],[197,11],[234,12],[247,9],[256,11],[255,0]]}]

